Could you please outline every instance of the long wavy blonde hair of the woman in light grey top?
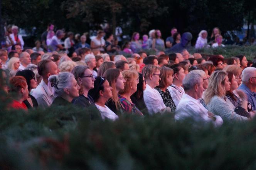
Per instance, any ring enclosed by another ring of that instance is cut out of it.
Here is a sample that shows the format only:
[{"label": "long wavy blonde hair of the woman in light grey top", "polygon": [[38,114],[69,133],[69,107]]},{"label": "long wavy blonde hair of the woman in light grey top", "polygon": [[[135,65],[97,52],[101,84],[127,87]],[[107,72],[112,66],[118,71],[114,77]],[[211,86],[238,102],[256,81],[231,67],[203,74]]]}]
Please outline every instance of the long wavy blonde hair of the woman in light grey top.
[{"label": "long wavy blonde hair of the woman in light grey top", "polygon": [[209,87],[205,90],[204,101],[206,104],[210,102],[215,95],[222,97],[225,95],[226,90],[224,87],[226,71],[215,71],[209,78]]}]

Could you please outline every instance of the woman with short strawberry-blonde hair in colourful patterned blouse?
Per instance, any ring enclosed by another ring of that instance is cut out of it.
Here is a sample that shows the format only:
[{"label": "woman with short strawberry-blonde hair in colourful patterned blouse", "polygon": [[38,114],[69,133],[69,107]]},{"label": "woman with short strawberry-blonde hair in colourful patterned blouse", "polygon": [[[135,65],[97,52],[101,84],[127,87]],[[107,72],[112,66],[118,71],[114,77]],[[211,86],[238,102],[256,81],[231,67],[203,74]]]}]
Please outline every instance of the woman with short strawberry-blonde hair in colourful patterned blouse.
[{"label": "woman with short strawberry-blonde hair in colourful patterned blouse", "polygon": [[123,111],[143,116],[143,113],[141,113],[131,101],[131,95],[137,91],[137,85],[139,83],[138,73],[132,70],[125,70],[122,72],[122,75],[125,79],[125,88],[119,92],[118,98],[123,107]]}]

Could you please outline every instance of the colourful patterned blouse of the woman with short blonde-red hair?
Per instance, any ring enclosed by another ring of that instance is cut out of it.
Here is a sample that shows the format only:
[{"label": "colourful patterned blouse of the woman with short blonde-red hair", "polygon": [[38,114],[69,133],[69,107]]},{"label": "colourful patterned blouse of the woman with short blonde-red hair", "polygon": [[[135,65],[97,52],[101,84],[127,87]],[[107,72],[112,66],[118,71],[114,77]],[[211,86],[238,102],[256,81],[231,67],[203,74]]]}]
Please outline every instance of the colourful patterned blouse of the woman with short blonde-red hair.
[{"label": "colourful patterned blouse of the woman with short blonde-red hair", "polygon": [[130,103],[129,100],[127,100],[125,97],[121,95],[118,95],[118,98],[120,100],[124,112],[143,116],[143,113],[140,112],[140,110],[135,106],[135,104]]}]

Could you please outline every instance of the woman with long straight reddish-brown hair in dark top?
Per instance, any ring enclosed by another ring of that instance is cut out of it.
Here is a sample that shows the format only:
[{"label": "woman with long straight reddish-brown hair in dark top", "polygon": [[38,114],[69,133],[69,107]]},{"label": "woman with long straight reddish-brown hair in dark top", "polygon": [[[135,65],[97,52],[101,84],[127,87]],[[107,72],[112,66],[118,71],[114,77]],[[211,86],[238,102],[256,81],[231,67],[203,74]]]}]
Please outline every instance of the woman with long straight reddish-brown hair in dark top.
[{"label": "woman with long straight reddish-brown hair in dark top", "polygon": [[108,80],[112,89],[112,96],[106,102],[106,105],[116,114],[123,113],[123,107],[118,98],[118,93],[125,88],[125,79],[123,78],[121,70],[118,68],[110,68],[106,70],[103,77]]}]

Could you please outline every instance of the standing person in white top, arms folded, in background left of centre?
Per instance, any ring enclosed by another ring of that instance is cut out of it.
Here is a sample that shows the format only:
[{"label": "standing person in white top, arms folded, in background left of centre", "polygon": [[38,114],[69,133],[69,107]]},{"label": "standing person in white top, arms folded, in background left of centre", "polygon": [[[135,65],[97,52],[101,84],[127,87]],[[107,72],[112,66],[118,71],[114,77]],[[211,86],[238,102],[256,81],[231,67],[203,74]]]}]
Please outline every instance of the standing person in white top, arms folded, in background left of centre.
[{"label": "standing person in white top, arms folded, in background left of centre", "polygon": [[105,47],[105,40],[104,40],[104,35],[105,32],[103,30],[99,30],[97,32],[97,37],[93,38],[91,40],[91,49],[92,52],[97,52],[97,51],[104,51]]}]

